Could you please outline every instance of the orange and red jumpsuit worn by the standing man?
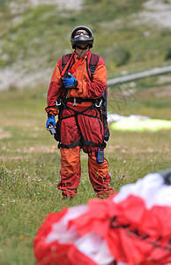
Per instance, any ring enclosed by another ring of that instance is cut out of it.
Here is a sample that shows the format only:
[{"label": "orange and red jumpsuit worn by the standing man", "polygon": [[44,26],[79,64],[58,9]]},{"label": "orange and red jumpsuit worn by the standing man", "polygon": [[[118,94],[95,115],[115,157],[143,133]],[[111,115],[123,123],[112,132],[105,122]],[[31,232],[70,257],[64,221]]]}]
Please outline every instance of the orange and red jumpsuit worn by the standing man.
[{"label": "orange and red jumpsuit worn by the standing man", "polygon": [[[97,163],[96,151],[104,148],[104,128],[100,111],[96,110],[91,100],[100,98],[107,87],[107,70],[104,60],[100,57],[93,73],[93,82],[87,73],[91,51],[85,53],[83,61],[72,75],[78,80],[78,87],[68,89],[67,98],[86,99],[86,102],[67,102],[63,110],[56,110],[56,99],[63,97],[64,86],[61,78],[62,58],[56,64],[48,89],[48,114],[57,115],[61,134],[61,181],[58,189],[63,191],[63,197],[75,197],[81,177],[80,148],[88,154],[89,178],[98,197],[114,195],[109,187],[108,161]],[[71,66],[78,62],[74,51]],[[70,67],[71,67],[70,66]],[[68,70],[70,72],[70,68]],[[90,99],[90,101],[88,101]]]}]

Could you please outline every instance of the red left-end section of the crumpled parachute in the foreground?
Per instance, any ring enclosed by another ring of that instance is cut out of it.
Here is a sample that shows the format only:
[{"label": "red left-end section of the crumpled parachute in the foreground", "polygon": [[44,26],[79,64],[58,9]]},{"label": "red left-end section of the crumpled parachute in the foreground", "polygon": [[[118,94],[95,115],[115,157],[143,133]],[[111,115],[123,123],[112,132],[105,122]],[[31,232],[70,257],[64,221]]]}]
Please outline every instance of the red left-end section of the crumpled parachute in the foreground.
[{"label": "red left-end section of the crumpled parachute in the foreground", "polygon": [[[34,254],[38,265],[48,264],[87,264],[97,265],[91,259],[84,254],[80,253],[76,246],[72,243],[60,244],[57,239],[53,239],[49,242],[46,241],[48,235],[52,231],[53,224],[58,223],[63,216],[66,216],[69,212],[68,208],[64,208],[59,214],[48,214],[45,222],[41,225],[40,230],[37,232],[34,239]],[[63,227],[65,224],[63,223]],[[62,232],[64,232],[63,227]]]}]

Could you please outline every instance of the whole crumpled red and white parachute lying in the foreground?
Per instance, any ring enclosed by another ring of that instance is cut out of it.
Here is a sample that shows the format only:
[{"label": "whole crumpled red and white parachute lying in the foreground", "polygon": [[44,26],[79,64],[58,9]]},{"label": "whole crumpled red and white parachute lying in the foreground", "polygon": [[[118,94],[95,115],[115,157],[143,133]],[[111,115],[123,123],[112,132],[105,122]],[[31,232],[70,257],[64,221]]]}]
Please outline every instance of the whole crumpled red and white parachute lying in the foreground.
[{"label": "whole crumpled red and white parachute lying in the foreground", "polygon": [[114,197],[50,214],[34,239],[34,254],[39,265],[168,265],[171,186],[153,173]]}]

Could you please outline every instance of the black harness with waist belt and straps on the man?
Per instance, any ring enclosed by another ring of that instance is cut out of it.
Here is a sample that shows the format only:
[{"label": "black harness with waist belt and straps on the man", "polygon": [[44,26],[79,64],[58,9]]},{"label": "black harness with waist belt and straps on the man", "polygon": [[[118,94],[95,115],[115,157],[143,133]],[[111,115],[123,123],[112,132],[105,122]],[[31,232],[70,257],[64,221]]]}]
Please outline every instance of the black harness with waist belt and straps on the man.
[{"label": "black harness with waist belt and straps on the man", "polygon": [[[74,68],[74,61],[72,61],[72,57],[73,57],[74,53],[72,54],[67,54],[64,55],[62,57],[62,71],[61,71],[61,76],[63,76],[65,73],[68,72],[68,69]],[[99,62],[99,55],[96,55],[94,53],[91,54],[90,57],[90,61],[88,63],[87,57],[85,57],[86,60],[86,71],[88,73],[88,77],[90,79],[91,82],[93,82],[93,73],[95,72],[96,66]],[[103,123],[103,127],[104,127],[104,133],[105,133],[105,141],[108,141],[109,139],[109,130],[108,130],[108,121],[107,121],[107,93],[108,93],[108,88],[105,88],[105,92],[104,94],[99,98],[99,99],[85,99],[85,98],[67,98],[67,94],[68,94],[68,89],[64,90],[64,96],[63,98],[58,98],[56,100],[56,108],[59,110],[59,123],[61,123],[63,117],[61,115],[61,110],[63,110],[64,108],[68,108],[70,109],[69,106],[67,106],[67,102],[73,102],[73,107],[77,106],[77,103],[81,103],[81,102],[93,102],[92,106],[88,107],[86,110],[89,110],[91,108],[96,109],[99,111],[100,113],[100,120]],[[72,109],[73,110],[73,109]],[[77,117],[78,115],[86,115],[85,112],[86,110],[82,111],[82,112],[78,112],[77,110],[73,110],[75,112],[74,117],[76,117],[76,121],[77,121]],[[67,117],[65,117],[67,118]],[[57,139],[59,140],[59,139]],[[91,145],[93,146],[93,143],[91,143]],[[103,142],[100,144],[100,147],[105,146],[106,143]],[[62,145],[59,143],[58,147],[62,147]],[[70,148],[70,147],[69,147]]]}]

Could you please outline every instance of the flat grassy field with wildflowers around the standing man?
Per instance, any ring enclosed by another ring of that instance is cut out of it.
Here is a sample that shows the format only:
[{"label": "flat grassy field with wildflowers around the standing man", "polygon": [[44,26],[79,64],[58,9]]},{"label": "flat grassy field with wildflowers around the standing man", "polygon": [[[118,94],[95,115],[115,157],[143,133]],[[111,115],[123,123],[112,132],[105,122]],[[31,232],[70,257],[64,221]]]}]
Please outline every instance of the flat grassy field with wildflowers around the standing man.
[{"label": "flat grassy field with wildflowers around the standing man", "polygon": [[[170,78],[170,76],[165,77]],[[160,77],[139,80],[136,93],[128,84],[109,87],[108,111],[129,116],[170,118],[168,82]],[[124,88],[124,90],[123,90]],[[48,212],[87,203],[95,198],[87,173],[87,157],[81,153],[82,177],[73,201],[62,201],[56,189],[60,179],[60,151],[45,129],[47,88],[0,93],[0,264],[33,265],[33,238]],[[171,131],[126,133],[111,131],[106,157],[115,192],[148,172],[171,165]]]}]

